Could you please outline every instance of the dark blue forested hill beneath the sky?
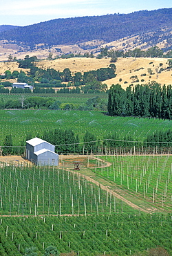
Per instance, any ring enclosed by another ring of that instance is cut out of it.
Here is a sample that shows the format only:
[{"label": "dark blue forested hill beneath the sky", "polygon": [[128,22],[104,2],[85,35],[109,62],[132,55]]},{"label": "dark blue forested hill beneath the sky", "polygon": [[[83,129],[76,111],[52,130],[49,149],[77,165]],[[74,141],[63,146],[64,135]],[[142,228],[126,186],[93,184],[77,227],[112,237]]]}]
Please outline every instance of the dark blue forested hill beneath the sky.
[{"label": "dark blue forested hill beneath the sky", "polygon": [[35,44],[76,44],[89,40],[112,42],[122,37],[171,28],[172,8],[130,14],[53,19],[0,33],[0,39]]}]

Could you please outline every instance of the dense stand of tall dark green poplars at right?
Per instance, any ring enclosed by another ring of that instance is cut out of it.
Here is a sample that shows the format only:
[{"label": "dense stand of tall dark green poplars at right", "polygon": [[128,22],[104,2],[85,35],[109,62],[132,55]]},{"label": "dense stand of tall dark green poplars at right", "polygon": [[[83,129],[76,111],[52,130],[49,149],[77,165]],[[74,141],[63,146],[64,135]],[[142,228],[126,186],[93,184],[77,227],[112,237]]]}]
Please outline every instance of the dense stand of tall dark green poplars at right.
[{"label": "dense stand of tall dark green poplars at right", "polygon": [[109,116],[172,119],[172,87],[152,82],[125,91],[120,84],[112,85],[107,109]]}]

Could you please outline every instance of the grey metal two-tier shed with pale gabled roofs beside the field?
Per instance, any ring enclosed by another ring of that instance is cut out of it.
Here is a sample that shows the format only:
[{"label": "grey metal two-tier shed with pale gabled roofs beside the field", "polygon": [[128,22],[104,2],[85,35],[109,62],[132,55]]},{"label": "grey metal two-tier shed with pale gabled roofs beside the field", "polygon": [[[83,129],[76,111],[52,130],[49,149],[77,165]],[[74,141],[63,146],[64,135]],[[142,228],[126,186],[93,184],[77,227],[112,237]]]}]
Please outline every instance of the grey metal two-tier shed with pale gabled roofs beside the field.
[{"label": "grey metal two-tier shed with pale gabled roofs beside the field", "polygon": [[26,141],[26,158],[35,165],[58,165],[55,146],[41,138]]}]

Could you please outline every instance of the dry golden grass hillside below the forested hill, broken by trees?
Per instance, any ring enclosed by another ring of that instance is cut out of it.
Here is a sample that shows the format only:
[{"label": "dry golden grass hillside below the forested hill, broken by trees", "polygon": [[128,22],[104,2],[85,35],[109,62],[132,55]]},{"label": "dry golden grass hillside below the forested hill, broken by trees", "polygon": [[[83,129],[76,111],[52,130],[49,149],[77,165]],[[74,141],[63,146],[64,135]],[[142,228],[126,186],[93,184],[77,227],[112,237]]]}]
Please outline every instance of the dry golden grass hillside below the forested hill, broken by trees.
[{"label": "dry golden grass hillside below the forested hill, broken by trees", "polygon": [[[41,60],[36,64],[40,68],[54,68],[57,71],[63,71],[65,68],[69,68],[72,71],[72,75],[76,72],[92,71],[98,68],[107,68],[109,66],[110,59],[96,59],[96,58],[70,58],[70,59],[56,59],[56,60]],[[160,84],[172,84],[172,71],[167,71],[167,59],[165,58],[118,58],[116,64],[116,77],[111,80],[106,80],[105,83],[108,87],[111,84],[121,84],[122,88],[126,88],[129,84],[133,83],[133,76],[137,75],[139,84],[146,84],[151,81],[156,81]],[[148,68],[151,68],[153,75],[148,73]],[[164,68],[164,71],[157,73],[156,70]],[[11,72],[14,70],[20,71],[17,62],[0,62],[0,73],[6,70]],[[22,69],[27,72],[27,70]],[[143,75],[144,74],[144,75]],[[121,80],[121,81],[120,81]],[[144,80],[144,81],[141,81]]]}]

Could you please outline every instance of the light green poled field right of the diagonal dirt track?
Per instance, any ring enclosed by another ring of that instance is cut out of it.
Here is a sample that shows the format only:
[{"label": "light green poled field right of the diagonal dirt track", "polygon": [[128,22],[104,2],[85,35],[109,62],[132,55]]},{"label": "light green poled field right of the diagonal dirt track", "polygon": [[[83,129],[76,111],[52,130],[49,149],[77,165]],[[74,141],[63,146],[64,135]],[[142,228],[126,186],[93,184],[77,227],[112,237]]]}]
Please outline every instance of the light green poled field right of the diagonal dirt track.
[{"label": "light green poled field right of the diagonal dirt track", "polygon": [[114,155],[102,158],[111,166],[96,168],[94,172],[151,202],[153,207],[171,211],[172,156]]}]

